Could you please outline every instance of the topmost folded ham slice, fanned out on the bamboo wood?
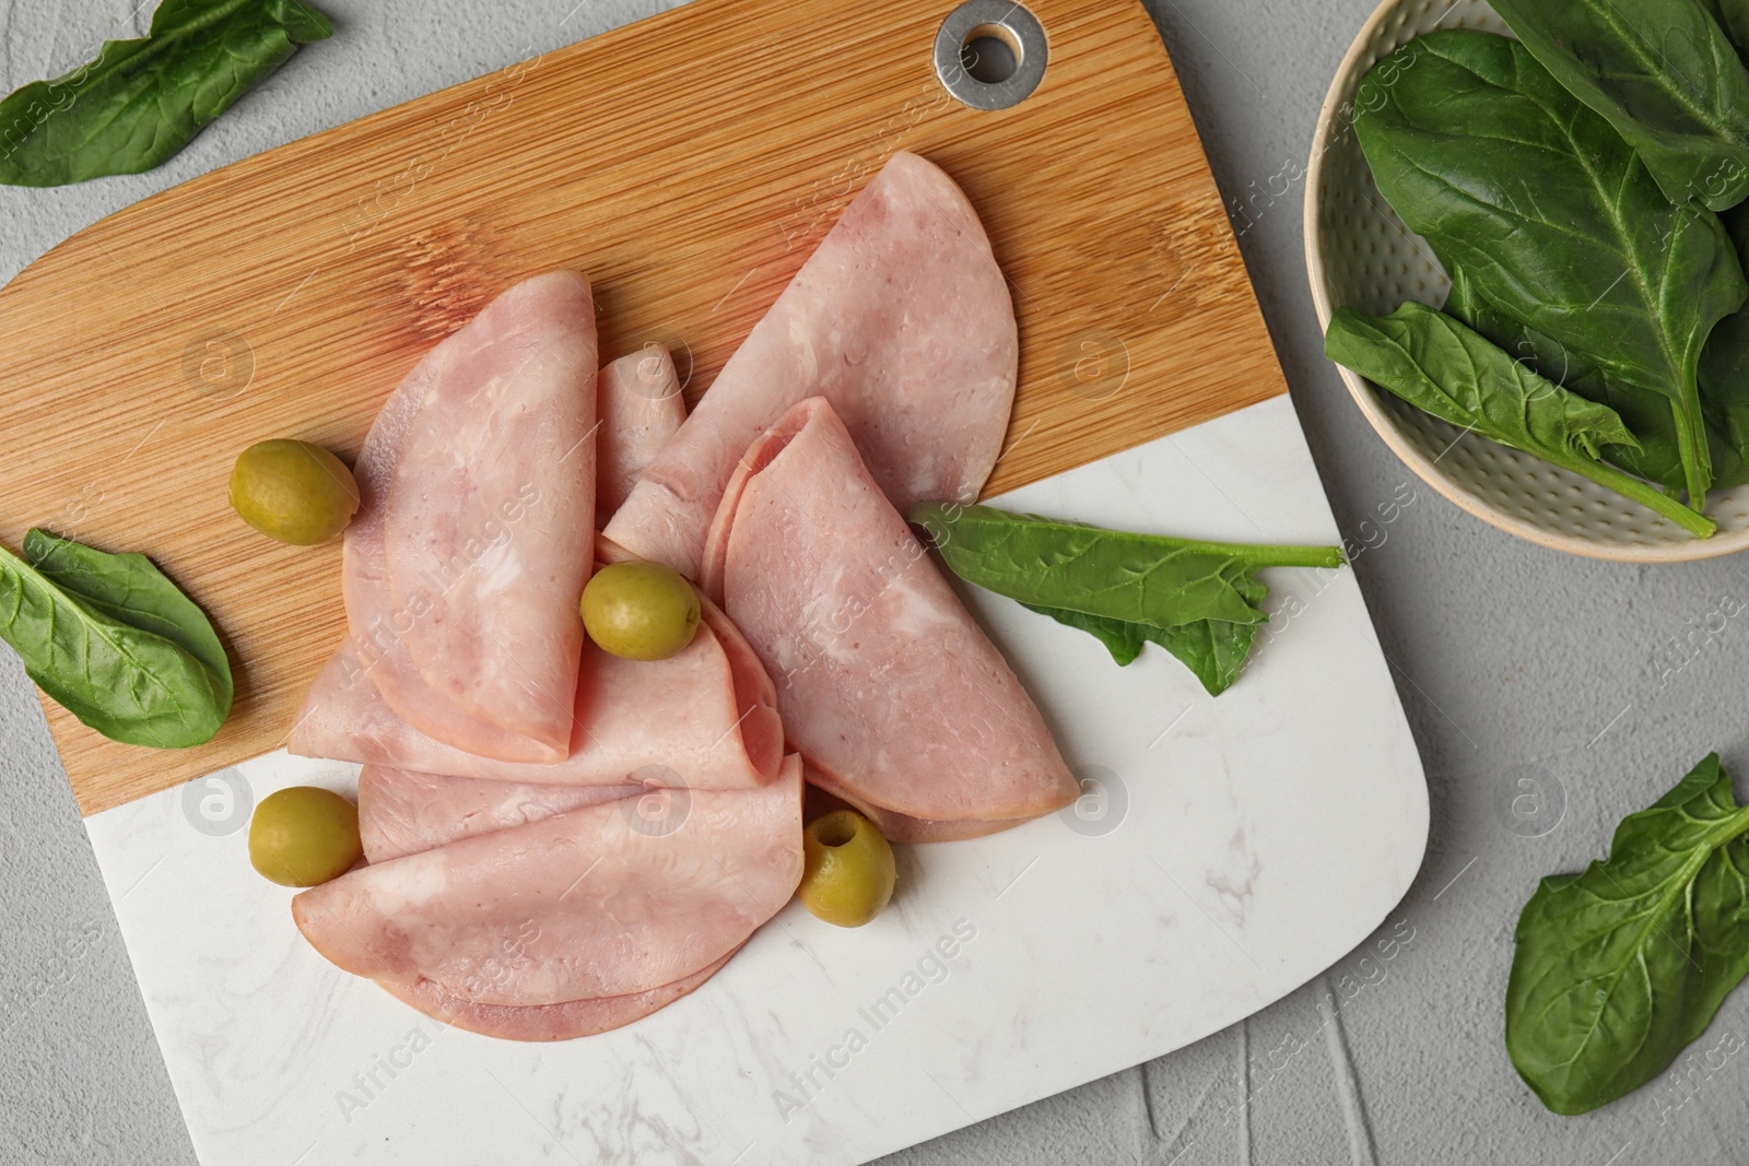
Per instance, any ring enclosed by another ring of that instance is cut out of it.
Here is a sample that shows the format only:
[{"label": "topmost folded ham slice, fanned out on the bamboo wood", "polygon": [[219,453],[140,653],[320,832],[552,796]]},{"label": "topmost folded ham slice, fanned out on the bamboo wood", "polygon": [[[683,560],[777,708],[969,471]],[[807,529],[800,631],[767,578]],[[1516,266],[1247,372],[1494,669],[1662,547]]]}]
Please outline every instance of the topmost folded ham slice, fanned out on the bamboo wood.
[{"label": "topmost folded ham slice, fanned out on the bamboo wood", "polygon": [[965,196],[899,152],[722,365],[605,533],[696,579],[742,451],[824,395],[901,510],[971,502],[1014,402],[1014,306]]}]

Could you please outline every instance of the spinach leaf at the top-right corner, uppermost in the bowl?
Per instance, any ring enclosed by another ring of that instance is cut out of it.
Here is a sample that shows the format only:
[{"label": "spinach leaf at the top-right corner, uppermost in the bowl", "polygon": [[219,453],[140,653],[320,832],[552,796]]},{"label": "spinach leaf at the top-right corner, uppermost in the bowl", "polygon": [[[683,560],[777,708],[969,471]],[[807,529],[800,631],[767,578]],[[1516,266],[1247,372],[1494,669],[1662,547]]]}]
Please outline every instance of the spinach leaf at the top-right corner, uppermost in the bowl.
[{"label": "spinach leaf at the top-right corner, uppermost in the bowl", "polygon": [[1698,0],[1499,0],[1560,84],[1609,119],[1672,203],[1749,196],[1749,72]]}]

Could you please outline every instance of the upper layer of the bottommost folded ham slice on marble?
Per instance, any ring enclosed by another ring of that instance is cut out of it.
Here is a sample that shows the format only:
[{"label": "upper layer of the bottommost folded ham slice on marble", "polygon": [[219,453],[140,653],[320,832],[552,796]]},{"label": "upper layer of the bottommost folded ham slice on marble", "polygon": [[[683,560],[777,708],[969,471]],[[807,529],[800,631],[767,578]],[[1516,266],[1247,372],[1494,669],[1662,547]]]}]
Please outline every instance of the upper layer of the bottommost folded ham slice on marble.
[{"label": "upper layer of the bottommost folded ham slice on marble", "polygon": [[708,968],[789,902],[801,867],[791,755],[759,790],[652,790],[360,867],[292,916],[355,975],[537,1007]]}]

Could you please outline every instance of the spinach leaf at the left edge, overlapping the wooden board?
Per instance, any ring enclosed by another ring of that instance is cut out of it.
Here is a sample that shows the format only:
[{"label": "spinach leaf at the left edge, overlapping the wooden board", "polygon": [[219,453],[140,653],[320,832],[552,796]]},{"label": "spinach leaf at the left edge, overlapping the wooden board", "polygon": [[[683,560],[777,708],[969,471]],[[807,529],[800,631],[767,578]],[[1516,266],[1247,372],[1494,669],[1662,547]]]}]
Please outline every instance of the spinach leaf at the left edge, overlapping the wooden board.
[{"label": "spinach leaf at the left edge, overlapping the wooden board", "polygon": [[115,741],[185,748],[212,739],[231,701],[206,664],[61,591],[0,547],[0,640],[44,692]]}]

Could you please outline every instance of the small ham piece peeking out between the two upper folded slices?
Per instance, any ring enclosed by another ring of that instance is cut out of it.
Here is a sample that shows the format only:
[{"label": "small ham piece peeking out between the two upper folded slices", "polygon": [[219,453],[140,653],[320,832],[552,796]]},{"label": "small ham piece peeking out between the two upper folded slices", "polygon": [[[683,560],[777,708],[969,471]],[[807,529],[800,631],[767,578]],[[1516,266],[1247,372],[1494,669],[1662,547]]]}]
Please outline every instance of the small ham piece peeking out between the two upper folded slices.
[{"label": "small ham piece peeking out between the two upper folded slices", "polygon": [[661,344],[614,360],[596,379],[602,428],[595,451],[595,517],[605,526],[661,448],[686,421],[673,357]]}]

